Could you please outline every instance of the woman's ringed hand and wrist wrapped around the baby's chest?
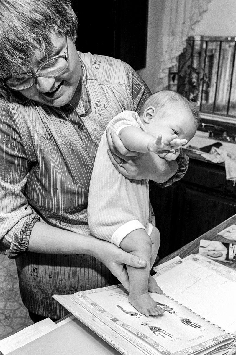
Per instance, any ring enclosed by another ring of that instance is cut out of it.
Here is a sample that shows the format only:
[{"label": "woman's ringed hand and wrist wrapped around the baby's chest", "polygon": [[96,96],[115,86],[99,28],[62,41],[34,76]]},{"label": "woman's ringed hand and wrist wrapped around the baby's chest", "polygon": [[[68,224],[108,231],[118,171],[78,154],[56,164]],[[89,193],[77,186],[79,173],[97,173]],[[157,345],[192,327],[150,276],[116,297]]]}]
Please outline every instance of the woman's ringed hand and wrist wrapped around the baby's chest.
[{"label": "woman's ringed hand and wrist wrapped around the baby's chest", "polygon": [[177,171],[177,162],[167,162],[157,154],[131,152],[123,145],[120,138],[107,130],[109,145],[108,155],[120,174],[128,179],[151,179],[156,182],[165,182]]}]

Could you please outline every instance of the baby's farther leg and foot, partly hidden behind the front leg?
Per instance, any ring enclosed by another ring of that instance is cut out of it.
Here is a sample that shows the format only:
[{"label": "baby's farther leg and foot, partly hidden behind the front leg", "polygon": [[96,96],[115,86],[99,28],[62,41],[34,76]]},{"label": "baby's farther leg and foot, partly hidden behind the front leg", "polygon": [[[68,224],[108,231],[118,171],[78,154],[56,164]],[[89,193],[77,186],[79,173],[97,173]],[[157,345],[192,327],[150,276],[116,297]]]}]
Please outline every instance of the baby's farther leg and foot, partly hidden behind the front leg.
[{"label": "baby's farther leg and foot, partly hidden behind the front leg", "polygon": [[[151,239],[151,243],[152,243],[151,258],[150,258],[150,270],[151,270],[151,268],[156,260],[157,252],[160,247],[160,233],[159,233],[159,230],[154,226],[152,228],[150,239]],[[162,289],[157,285],[156,280],[150,274],[149,274],[149,278],[148,278],[148,290],[149,290],[149,292],[152,292],[152,293],[159,293],[159,294],[163,293]]]}]

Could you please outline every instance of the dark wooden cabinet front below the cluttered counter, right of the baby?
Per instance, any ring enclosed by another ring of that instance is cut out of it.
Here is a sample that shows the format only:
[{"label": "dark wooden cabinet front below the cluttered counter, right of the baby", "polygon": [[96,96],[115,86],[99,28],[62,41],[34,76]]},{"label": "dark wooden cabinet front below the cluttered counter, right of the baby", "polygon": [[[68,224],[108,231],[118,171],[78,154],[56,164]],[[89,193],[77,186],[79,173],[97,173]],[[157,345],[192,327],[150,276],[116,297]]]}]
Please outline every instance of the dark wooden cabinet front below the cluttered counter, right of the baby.
[{"label": "dark wooden cabinet front below the cluttered counter, right of the baby", "polygon": [[223,165],[190,158],[182,180],[165,188],[150,182],[150,201],[162,258],[235,214],[236,186],[226,180]]}]

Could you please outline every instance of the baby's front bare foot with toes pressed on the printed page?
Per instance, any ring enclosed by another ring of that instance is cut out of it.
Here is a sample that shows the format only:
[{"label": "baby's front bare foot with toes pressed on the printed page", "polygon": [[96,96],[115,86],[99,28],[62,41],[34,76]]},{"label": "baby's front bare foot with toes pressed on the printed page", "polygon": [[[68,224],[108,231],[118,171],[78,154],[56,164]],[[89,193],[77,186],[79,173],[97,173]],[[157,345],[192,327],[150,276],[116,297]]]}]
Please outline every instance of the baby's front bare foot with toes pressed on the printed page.
[{"label": "baby's front bare foot with toes pressed on the printed page", "polygon": [[157,306],[148,292],[136,297],[129,295],[129,303],[145,316],[158,316],[165,312],[163,308]]}]

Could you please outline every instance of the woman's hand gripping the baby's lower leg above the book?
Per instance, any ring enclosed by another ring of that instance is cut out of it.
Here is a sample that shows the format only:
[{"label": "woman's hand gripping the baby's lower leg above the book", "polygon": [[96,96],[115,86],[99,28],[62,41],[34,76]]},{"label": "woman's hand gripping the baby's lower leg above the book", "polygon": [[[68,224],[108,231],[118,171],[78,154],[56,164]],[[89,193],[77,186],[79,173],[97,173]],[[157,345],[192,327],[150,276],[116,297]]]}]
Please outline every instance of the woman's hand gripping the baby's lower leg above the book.
[{"label": "woman's hand gripping the baby's lower leg above the book", "polygon": [[123,251],[115,244],[94,238],[94,257],[99,259],[117,277],[122,285],[129,290],[129,278],[125,265],[137,268],[145,267],[146,260]]}]

